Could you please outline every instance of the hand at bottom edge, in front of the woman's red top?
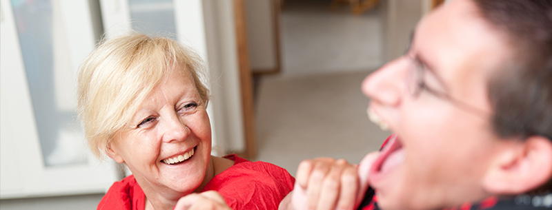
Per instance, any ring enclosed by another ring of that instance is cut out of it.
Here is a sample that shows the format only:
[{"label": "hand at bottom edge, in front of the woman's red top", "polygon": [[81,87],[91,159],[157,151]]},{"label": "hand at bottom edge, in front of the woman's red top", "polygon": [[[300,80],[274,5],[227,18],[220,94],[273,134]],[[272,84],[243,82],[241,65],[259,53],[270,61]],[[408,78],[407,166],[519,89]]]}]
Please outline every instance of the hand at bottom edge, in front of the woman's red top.
[{"label": "hand at bottom edge, in front of the woman's red top", "polygon": [[217,191],[191,193],[180,198],[174,210],[232,210]]}]

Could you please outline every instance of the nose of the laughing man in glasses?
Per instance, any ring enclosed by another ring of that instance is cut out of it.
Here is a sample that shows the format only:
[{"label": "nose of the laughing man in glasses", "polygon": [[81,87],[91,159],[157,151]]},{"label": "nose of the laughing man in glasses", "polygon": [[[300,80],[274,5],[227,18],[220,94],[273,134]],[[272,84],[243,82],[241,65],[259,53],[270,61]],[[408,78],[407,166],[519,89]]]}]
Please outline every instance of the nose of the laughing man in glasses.
[{"label": "nose of the laughing man in glasses", "polygon": [[404,56],[387,63],[364,78],[362,92],[378,103],[399,105],[406,90],[405,77],[409,65]]}]

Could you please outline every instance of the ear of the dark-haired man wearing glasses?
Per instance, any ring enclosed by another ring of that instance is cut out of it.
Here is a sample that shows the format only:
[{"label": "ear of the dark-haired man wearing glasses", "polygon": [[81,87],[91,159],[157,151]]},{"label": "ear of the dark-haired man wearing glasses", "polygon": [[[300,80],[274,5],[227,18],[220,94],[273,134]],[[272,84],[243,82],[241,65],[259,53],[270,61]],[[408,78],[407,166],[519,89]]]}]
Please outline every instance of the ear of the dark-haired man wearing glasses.
[{"label": "ear of the dark-haired man wearing glasses", "polygon": [[530,136],[502,149],[491,162],[483,186],[489,193],[515,195],[544,185],[552,178],[552,141]]}]

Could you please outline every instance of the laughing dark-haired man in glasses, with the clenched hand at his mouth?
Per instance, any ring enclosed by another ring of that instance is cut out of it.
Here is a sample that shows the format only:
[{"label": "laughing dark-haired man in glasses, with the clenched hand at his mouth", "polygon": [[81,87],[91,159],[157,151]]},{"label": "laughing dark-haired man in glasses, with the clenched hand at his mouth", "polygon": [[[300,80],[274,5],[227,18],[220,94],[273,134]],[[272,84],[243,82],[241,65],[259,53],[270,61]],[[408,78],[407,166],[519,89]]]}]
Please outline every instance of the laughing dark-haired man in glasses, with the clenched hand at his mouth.
[{"label": "laughing dark-haired man in glasses, with the clenched hand at his mouth", "polygon": [[281,209],[353,209],[367,185],[364,209],[552,208],[551,0],[451,1],[362,90],[394,134],[359,180],[302,162]]}]

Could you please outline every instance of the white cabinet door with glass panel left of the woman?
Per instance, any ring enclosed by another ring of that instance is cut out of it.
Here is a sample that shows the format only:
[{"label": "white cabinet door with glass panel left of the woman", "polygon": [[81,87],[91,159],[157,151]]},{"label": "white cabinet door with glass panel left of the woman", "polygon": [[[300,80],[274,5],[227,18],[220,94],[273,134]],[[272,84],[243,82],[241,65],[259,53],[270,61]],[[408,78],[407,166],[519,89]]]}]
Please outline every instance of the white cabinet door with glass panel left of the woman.
[{"label": "white cabinet door with glass panel left of the woman", "polygon": [[88,1],[0,3],[0,198],[105,192],[115,163],[90,154],[75,110]]}]

